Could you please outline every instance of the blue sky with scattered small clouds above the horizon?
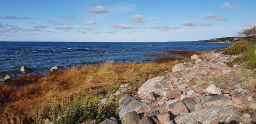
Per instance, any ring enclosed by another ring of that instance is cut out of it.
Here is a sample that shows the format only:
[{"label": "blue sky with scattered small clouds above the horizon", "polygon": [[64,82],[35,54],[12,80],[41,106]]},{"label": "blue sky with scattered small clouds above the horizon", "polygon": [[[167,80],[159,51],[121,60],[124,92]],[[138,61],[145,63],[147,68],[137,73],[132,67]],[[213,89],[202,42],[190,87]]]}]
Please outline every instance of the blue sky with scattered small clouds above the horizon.
[{"label": "blue sky with scattered small clouds above the horizon", "polygon": [[0,0],[0,41],[192,41],[254,25],[256,0]]}]

